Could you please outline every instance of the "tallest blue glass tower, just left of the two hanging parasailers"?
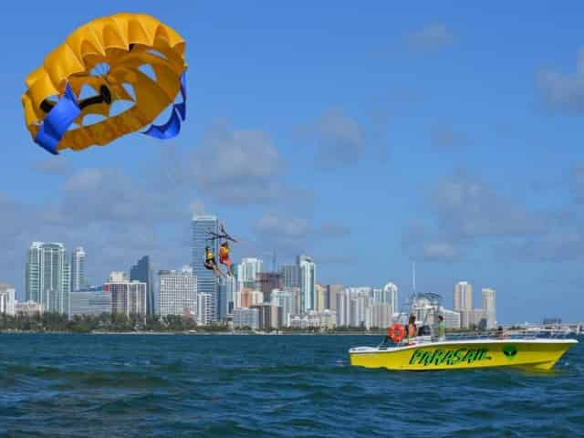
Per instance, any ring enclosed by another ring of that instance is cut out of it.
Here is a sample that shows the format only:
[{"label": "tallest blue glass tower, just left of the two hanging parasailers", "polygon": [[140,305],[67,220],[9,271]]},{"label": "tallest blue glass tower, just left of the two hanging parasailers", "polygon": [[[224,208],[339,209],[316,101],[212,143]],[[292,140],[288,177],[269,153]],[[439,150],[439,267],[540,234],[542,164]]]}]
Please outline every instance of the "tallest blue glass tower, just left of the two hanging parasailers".
[{"label": "tallest blue glass tower, just left of the two hanging parasailers", "polygon": [[208,322],[214,322],[219,319],[219,299],[217,297],[219,287],[214,272],[204,267],[204,248],[210,246],[214,255],[218,256],[219,243],[217,240],[209,240],[209,234],[219,233],[219,220],[217,216],[213,215],[194,215],[192,230],[191,266],[193,266],[194,276],[197,277],[198,293],[209,295],[211,316]]}]

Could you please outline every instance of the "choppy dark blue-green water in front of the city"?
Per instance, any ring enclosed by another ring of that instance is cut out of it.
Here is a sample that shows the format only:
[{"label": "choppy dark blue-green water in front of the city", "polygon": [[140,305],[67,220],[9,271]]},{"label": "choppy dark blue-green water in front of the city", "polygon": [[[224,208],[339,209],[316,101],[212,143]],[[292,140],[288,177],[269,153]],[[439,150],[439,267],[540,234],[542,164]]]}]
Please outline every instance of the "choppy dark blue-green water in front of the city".
[{"label": "choppy dark blue-green water in front of the city", "polygon": [[550,373],[349,366],[379,340],[0,334],[0,436],[584,436],[584,339]]}]

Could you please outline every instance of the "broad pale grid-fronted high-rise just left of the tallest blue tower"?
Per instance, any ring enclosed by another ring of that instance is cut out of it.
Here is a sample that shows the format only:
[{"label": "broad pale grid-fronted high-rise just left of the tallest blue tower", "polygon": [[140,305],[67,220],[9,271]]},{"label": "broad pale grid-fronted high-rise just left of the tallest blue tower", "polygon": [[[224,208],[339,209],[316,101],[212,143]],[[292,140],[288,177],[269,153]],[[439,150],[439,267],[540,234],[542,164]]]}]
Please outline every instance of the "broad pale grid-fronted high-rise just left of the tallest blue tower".
[{"label": "broad pale grid-fronted high-rise just left of the tallest blue tower", "polygon": [[197,310],[197,277],[193,268],[160,271],[159,306],[161,317],[193,314]]}]

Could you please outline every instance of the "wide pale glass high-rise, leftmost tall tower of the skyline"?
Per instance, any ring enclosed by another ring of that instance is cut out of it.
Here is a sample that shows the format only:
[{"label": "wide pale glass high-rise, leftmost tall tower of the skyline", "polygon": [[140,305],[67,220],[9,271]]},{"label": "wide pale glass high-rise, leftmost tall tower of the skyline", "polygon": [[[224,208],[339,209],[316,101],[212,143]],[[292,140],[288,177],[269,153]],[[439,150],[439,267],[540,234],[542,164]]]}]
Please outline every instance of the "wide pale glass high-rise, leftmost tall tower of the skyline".
[{"label": "wide pale glass high-rise, leftmost tall tower of the skyline", "polygon": [[69,313],[70,271],[63,244],[33,242],[26,260],[26,300],[45,311]]}]

